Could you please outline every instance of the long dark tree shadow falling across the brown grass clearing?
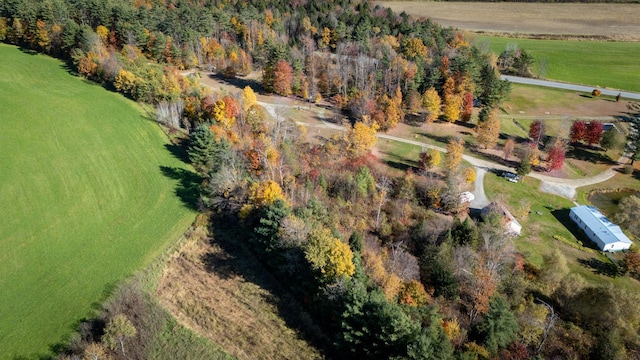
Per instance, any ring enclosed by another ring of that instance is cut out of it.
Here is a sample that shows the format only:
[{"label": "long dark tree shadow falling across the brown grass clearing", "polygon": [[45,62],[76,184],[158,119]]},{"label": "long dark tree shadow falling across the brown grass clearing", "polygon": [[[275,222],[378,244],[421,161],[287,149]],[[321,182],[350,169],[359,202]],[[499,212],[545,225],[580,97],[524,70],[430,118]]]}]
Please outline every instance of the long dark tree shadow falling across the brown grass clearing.
[{"label": "long dark tree shadow falling across the brown grass clearing", "polygon": [[316,349],[325,354],[331,352],[329,338],[289,291],[283,278],[274,276],[253,253],[248,242],[250,231],[235,219],[217,218],[213,219],[211,233],[211,241],[222,251],[203,255],[208,272],[223,279],[241,277],[266,290],[268,295],[264,295],[264,300],[276,307],[287,326],[296,329]]}]

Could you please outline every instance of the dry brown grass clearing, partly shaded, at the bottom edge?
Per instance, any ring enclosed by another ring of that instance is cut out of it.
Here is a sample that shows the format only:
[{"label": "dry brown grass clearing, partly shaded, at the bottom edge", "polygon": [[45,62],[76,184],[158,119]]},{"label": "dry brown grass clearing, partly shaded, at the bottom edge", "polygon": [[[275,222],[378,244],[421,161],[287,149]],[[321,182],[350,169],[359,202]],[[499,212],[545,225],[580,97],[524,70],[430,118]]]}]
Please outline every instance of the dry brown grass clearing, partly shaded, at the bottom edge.
[{"label": "dry brown grass clearing, partly shaded, at the bottom edge", "polygon": [[164,307],[238,359],[322,358],[284,320],[305,322],[304,312],[269,272],[231,241],[197,231],[165,265],[158,285]]}]

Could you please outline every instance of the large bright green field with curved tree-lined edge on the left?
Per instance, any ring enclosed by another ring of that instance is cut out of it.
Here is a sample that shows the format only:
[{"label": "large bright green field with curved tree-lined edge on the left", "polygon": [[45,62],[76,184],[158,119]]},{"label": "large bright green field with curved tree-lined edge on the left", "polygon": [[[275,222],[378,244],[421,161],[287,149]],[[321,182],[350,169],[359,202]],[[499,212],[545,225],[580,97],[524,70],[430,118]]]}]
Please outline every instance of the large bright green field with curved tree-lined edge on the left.
[{"label": "large bright green field with curved tree-lined edge on the left", "polygon": [[0,45],[0,358],[49,354],[189,226],[167,144],[137,104]]}]

